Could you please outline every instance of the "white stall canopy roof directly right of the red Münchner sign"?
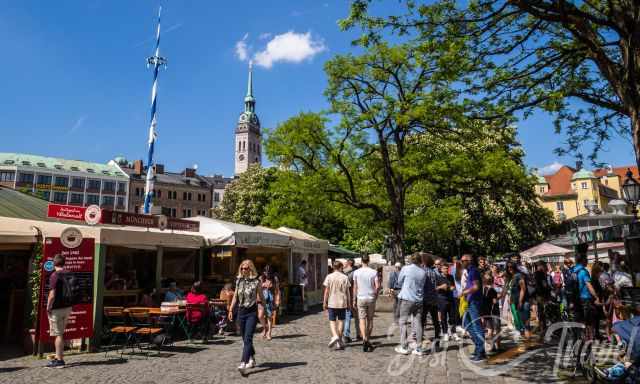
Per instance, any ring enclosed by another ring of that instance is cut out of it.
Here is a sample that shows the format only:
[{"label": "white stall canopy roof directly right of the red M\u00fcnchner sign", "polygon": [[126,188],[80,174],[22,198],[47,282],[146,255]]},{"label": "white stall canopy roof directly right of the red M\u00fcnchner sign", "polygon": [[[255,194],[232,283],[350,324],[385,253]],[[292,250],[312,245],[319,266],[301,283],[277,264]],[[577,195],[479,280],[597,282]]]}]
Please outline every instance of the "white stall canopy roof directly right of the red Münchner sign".
[{"label": "white stall canopy roof directly right of the red M\u00fcnchner sign", "polygon": [[290,237],[285,233],[264,227],[252,227],[204,216],[186,220],[200,223],[200,235],[207,245],[236,247],[290,247]]}]

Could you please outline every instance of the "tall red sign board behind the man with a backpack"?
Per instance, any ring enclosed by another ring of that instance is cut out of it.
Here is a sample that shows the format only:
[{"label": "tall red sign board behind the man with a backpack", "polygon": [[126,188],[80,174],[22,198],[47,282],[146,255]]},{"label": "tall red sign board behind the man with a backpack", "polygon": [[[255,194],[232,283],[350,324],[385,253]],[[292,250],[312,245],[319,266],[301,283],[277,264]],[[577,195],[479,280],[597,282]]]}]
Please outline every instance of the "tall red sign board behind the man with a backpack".
[{"label": "tall red sign board behind the man with a backpack", "polygon": [[49,277],[54,271],[53,258],[65,257],[65,272],[74,274],[80,285],[80,303],[73,306],[69,322],[64,330],[66,340],[93,336],[93,255],[94,239],[82,238],[77,230],[63,232],[63,238],[48,237],[44,241],[42,279],[40,282],[40,315],[38,334],[40,340],[50,340],[47,297],[51,287]]}]

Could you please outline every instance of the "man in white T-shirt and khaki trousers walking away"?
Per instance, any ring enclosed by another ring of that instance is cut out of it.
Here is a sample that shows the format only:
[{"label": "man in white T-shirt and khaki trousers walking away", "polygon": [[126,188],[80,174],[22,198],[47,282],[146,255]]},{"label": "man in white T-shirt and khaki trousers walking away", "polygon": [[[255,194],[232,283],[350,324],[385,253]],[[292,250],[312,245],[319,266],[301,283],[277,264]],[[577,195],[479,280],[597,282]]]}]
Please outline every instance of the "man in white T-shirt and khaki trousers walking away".
[{"label": "man in white T-shirt and khaki trousers walking away", "polygon": [[353,307],[358,309],[364,352],[373,351],[369,337],[373,330],[373,314],[376,311],[379,289],[378,272],[369,267],[369,256],[364,255],[362,256],[362,267],[353,273]]}]

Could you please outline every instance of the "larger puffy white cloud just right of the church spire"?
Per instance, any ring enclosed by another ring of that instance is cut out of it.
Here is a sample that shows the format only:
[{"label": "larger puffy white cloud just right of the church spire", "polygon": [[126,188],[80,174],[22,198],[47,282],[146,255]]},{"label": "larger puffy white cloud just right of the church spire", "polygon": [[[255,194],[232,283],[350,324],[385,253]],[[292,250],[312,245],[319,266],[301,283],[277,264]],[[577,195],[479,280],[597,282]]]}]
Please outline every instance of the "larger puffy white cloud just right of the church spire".
[{"label": "larger puffy white cloud just right of the church spire", "polygon": [[299,63],[311,59],[326,49],[322,39],[314,38],[311,32],[289,31],[269,40],[267,46],[254,55],[254,61],[257,65],[271,68],[279,61]]}]

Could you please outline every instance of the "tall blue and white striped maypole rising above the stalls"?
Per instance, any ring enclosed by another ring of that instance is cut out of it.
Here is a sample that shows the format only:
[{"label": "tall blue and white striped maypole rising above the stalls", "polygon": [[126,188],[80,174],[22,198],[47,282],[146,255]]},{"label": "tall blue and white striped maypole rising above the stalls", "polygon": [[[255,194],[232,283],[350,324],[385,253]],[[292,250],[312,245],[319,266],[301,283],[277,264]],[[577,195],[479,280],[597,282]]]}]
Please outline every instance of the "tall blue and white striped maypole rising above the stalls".
[{"label": "tall blue and white striped maypole rising above the stalls", "polygon": [[151,126],[149,127],[149,155],[147,158],[147,182],[144,188],[144,214],[148,215],[151,212],[151,206],[153,205],[153,183],[155,180],[155,171],[153,169],[153,147],[156,142],[156,125],[158,124],[156,118],[156,106],[158,101],[158,69],[161,66],[167,65],[167,60],[160,56],[160,13],[162,7],[158,9],[158,29],[156,32],[156,50],[153,56],[147,59],[147,66],[153,65],[153,87],[151,88]]}]

